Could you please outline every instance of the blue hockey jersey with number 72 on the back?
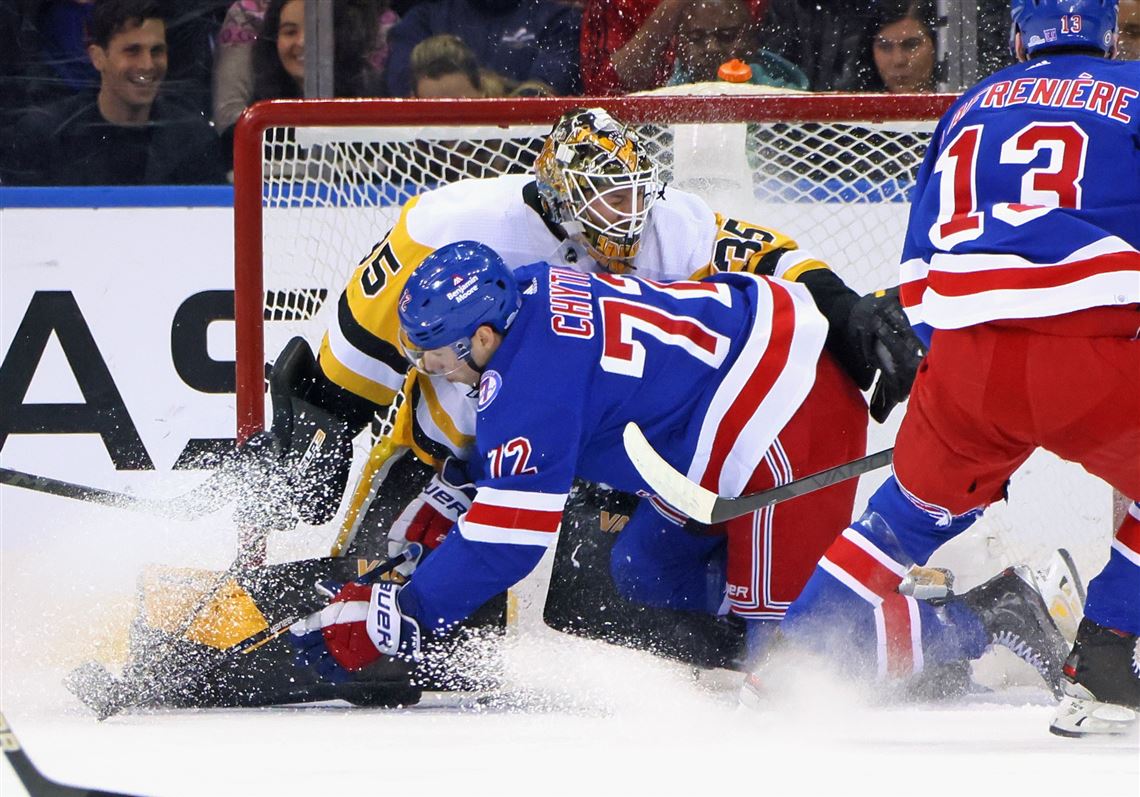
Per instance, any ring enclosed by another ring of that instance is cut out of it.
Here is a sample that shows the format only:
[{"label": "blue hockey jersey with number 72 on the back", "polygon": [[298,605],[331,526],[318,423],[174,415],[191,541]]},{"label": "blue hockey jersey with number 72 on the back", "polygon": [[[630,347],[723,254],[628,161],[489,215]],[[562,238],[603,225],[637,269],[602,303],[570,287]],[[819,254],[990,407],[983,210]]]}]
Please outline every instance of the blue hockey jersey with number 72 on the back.
[{"label": "blue hockey jersey with number 72 on the back", "polygon": [[479,384],[478,491],[404,588],[437,628],[520,580],[553,544],[575,477],[649,495],[636,421],[682,472],[739,495],[815,379],[826,320],[806,288],[748,273],[656,283],[546,263]]}]

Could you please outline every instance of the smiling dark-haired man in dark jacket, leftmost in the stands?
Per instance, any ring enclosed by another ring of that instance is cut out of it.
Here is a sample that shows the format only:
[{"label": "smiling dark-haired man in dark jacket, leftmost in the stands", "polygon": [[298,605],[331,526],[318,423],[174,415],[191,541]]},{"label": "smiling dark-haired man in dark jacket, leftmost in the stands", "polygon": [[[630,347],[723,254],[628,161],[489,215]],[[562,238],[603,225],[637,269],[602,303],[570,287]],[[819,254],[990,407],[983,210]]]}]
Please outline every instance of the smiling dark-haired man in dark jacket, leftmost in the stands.
[{"label": "smiling dark-haired man in dark jacket, leftmost in the stands", "polygon": [[90,22],[97,95],[28,111],[14,136],[13,182],[221,182],[218,138],[193,108],[160,96],[165,23],[156,0],[97,0]]}]

